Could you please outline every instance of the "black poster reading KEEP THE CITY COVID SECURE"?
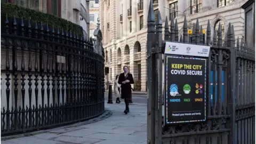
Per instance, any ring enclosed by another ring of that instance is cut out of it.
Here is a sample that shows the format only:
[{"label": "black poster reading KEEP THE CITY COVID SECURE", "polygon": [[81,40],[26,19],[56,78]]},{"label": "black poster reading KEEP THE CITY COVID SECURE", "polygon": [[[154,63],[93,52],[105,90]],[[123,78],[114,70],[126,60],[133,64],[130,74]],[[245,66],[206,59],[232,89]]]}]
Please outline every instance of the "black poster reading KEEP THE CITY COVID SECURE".
[{"label": "black poster reading KEEP THE CITY COVID SECURE", "polygon": [[207,59],[165,56],[165,123],[206,121]]}]

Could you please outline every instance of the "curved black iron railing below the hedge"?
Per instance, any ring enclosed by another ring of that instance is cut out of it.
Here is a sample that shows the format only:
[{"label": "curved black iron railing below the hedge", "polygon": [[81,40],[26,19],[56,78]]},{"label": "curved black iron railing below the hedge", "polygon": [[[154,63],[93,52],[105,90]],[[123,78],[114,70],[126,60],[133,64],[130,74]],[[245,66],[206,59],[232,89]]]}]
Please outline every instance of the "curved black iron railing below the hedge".
[{"label": "curved black iron railing below the hedge", "polygon": [[104,56],[94,52],[91,38],[28,20],[2,21],[1,135],[103,113]]}]

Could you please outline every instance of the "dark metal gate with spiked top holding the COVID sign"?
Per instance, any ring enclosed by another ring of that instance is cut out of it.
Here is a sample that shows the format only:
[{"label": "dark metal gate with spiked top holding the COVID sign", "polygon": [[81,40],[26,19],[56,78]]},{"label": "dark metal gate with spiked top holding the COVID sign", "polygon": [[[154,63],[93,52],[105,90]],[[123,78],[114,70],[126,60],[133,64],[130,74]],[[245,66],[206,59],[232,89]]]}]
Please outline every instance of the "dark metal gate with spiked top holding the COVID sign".
[{"label": "dark metal gate with spiked top holding the COVID sign", "polygon": [[[169,29],[166,17],[164,36],[159,11],[156,20],[150,1],[147,23],[147,143],[255,143],[254,47],[246,47],[243,38],[237,38],[236,44],[234,27],[230,23],[222,42],[221,26],[218,31],[213,31],[211,37],[210,21],[204,41],[198,19],[191,38],[188,38],[186,16],[180,38],[177,20],[174,23],[171,19]],[[207,84],[207,122],[163,126],[162,70],[166,41],[211,46],[208,73],[212,76],[209,76]]]}]

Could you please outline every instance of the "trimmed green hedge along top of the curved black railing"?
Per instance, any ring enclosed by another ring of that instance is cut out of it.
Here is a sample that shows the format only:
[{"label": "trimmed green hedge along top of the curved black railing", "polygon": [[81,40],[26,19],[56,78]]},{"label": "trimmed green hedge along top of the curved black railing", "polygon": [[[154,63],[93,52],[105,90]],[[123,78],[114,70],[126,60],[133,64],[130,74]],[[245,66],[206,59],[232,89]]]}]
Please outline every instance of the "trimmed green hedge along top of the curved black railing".
[{"label": "trimmed green hedge along top of the curved black railing", "polygon": [[68,29],[71,31],[76,31],[77,33],[82,34],[83,28],[79,25],[76,25],[73,22],[70,22],[65,19],[61,19],[59,17],[55,17],[54,15],[42,13],[39,11],[27,9],[25,7],[5,3],[1,4],[1,15],[6,15],[7,17],[16,17],[16,18],[23,18],[23,19],[30,19],[31,21],[37,21],[42,23],[48,23],[50,26],[60,27],[63,29]]}]

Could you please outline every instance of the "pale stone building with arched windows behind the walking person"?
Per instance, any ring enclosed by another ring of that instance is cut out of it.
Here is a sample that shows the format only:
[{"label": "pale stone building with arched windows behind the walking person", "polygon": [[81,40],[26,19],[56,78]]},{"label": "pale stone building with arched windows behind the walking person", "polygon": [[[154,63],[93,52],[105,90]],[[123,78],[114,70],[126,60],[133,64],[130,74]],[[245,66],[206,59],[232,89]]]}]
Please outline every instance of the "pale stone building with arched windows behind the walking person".
[{"label": "pale stone building with arched windows behind the walking person", "polygon": [[[198,18],[204,30],[210,20],[211,31],[221,25],[222,35],[226,35],[228,23],[234,25],[235,35],[244,36],[244,0],[151,0],[155,15],[161,12],[163,25],[167,17],[178,21],[179,36],[182,35],[183,20],[186,15],[188,34]],[[147,17],[149,0],[102,0],[100,2],[100,22],[105,49],[105,67],[109,73],[106,81],[114,81],[115,75],[122,73],[123,66],[130,67],[134,77],[134,89],[147,89]],[[163,31],[164,33],[164,31]],[[211,33],[213,35],[213,33]],[[204,35],[206,37],[206,34]],[[223,39],[224,41],[224,39]]]}]

